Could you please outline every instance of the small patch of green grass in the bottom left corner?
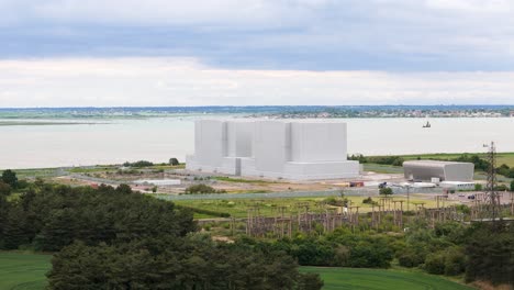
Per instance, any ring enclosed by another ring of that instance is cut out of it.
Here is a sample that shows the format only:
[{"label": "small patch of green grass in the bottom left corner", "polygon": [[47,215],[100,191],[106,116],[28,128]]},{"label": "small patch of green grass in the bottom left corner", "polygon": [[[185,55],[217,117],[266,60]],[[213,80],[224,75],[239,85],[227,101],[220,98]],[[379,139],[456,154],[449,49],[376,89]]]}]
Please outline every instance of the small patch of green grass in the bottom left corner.
[{"label": "small patch of green grass in the bottom left corner", "polygon": [[0,289],[45,289],[51,259],[51,255],[0,252]]}]

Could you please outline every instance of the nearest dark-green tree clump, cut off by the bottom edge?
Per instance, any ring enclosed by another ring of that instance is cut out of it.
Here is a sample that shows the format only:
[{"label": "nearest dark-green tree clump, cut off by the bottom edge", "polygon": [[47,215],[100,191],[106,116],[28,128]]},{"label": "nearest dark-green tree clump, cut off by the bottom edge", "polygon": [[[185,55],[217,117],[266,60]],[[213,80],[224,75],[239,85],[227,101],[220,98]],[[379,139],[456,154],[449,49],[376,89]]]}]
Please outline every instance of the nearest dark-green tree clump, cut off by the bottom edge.
[{"label": "nearest dark-green tree clump, cut off by the bottom edge", "polygon": [[321,289],[317,276],[299,274],[297,268],[280,252],[192,235],[96,247],[75,243],[56,254],[48,277],[52,289],[63,290],[83,285],[88,289]]}]

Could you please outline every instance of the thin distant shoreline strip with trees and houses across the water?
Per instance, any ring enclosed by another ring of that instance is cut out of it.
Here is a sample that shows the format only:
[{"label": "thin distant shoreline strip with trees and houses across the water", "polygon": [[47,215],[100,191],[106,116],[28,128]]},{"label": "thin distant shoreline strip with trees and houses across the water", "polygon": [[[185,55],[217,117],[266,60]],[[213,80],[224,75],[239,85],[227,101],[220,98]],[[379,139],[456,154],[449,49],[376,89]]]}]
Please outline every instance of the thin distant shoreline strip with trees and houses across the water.
[{"label": "thin distant shoreline strip with trees and houses across the water", "polygon": [[513,118],[514,104],[0,108],[0,120],[120,120],[224,114],[270,119]]}]

